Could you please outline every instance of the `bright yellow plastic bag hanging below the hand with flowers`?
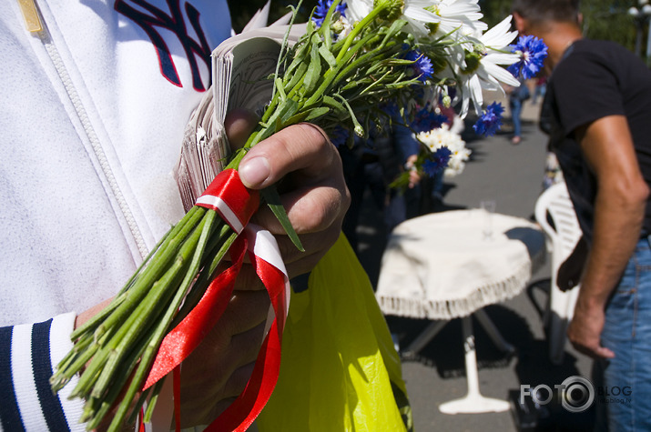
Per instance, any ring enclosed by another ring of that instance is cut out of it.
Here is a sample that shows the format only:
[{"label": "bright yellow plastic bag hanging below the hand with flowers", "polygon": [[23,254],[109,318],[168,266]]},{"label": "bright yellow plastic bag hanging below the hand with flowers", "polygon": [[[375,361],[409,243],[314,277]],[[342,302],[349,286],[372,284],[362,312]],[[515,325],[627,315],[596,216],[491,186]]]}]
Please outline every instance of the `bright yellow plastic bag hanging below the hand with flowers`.
[{"label": "bright yellow plastic bag hanging below the hand with flowers", "polygon": [[260,432],[411,431],[400,358],[345,236],[292,293],[278,385]]}]

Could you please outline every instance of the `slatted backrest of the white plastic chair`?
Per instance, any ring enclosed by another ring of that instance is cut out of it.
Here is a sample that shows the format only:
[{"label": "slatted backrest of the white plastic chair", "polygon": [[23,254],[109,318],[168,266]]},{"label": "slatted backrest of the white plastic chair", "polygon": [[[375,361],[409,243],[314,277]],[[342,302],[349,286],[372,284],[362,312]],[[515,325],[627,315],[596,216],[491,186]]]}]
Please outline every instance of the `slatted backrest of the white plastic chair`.
[{"label": "slatted backrest of the white plastic chair", "polygon": [[552,241],[555,273],[581,237],[575,207],[567,193],[565,182],[550,186],[538,197],[535,203],[535,219]]}]

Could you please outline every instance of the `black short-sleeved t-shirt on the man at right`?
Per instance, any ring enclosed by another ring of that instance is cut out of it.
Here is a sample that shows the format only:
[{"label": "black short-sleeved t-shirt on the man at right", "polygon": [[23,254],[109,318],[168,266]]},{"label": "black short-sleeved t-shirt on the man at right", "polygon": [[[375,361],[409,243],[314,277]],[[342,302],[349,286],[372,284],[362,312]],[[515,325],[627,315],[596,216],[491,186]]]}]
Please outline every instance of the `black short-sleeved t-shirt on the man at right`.
[{"label": "black short-sleeved t-shirt on the man at right", "polygon": [[[637,162],[651,186],[651,71],[626,48],[578,40],[554,68],[541,113],[585,238],[592,243],[595,173],[575,141],[575,130],[605,116],[626,116]],[[614,143],[615,145],[615,143]],[[644,232],[651,234],[651,201]]]}]

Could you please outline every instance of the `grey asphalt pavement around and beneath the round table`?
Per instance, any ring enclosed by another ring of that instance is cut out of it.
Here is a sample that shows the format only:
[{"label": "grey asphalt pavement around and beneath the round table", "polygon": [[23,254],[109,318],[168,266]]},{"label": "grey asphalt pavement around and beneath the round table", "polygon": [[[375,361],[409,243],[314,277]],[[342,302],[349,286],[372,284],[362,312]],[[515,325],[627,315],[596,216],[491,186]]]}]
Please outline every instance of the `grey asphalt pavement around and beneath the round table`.
[{"label": "grey asphalt pavement around and beneath the round table", "polygon": [[[471,160],[461,176],[444,184],[442,205],[434,211],[478,207],[482,200],[493,199],[496,212],[531,218],[537,197],[542,191],[546,138],[537,127],[540,105],[530,101],[524,105],[522,142],[510,142],[510,122],[505,119],[503,131],[496,136],[474,136],[466,126],[463,138],[472,149]],[[506,113],[508,116],[508,112]],[[466,120],[472,125],[473,118]],[[364,206],[360,236],[360,260],[375,286],[380,271],[381,251],[386,233],[379,225],[381,214],[371,205]],[[493,346],[483,332],[474,326],[479,386],[483,396],[514,401],[520,398],[521,385],[540,384],[554,388],[565,378],[590,377],[591,361],[567,344],[565,359],[554,366],[548,357],[540,306],[547,300],[551,275],[550,259],[532,277],[530,285],[514,298],[484,308],[505,340],[515,347],[514,354],[505,354]],[[406,347],[429,322],[387,316],[392,332]],[[486,414],[443,414],[439,406],[466,394],[461,320],[449,322],[413,359],[402,363],[403,377],[412,404],[416,431],[583,431],[594,424],[594,407],[582,413],[570,413],[554,399],[534,409],[529,426],[518,420],[515,410]]]}]

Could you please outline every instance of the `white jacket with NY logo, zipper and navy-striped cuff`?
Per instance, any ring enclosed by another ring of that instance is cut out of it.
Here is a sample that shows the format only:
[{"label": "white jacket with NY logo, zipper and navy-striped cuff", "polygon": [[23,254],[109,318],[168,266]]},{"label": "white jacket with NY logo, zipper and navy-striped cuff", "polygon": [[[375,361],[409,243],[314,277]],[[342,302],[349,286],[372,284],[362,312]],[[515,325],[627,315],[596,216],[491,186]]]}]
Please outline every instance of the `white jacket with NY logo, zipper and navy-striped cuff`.
[{"label": "white jacket with NY logo, zipper and navy-striped cuff", "polygon": [[115,294],[182,216],[183,129],[230,34],[225,0],[37,6],[46,29],[30,33],[18,1],[0,2],[0,376],[10,365],[26,430],[52,428],[28,400],[41,385],[27,361],[40,358],[36,336],[51,337],[56,364],[76,313]]}]

